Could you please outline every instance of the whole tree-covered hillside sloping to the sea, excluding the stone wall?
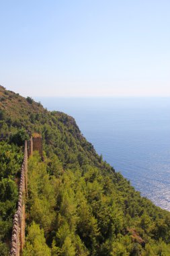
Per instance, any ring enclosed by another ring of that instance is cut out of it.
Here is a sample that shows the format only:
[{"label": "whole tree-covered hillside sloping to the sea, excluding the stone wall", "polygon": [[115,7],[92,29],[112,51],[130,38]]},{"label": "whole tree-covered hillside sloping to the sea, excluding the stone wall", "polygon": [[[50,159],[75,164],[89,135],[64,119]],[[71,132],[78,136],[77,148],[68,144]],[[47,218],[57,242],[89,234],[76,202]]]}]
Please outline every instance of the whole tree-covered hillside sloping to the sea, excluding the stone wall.
[{"label": "whole tree-covered hillside sloping to the sea, excluding the stone wall", "polygon": [[170,255],[170,213],[103,162],[73,117],[1,86],[0,133],[9,139],[0,142],[0,255],[8,255],[28,131],[42,134],[44,161],[34,152],[28,162],[25,256]]}]

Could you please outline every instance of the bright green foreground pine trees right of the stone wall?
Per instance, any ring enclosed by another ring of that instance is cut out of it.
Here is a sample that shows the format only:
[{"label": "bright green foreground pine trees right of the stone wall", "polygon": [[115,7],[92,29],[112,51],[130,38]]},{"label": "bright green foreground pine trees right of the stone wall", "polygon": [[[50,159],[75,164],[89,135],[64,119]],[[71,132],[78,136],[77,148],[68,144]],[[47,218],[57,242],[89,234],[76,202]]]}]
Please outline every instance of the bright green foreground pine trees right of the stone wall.
[{"label": "bright green foreground pine trees right of the stone wall", "polygon": [[51,255],[169,255],[169,212],[119,173],[89,164],[63,171],[58,158],[34,154],[28,174],[28,226],[36,222]]}]

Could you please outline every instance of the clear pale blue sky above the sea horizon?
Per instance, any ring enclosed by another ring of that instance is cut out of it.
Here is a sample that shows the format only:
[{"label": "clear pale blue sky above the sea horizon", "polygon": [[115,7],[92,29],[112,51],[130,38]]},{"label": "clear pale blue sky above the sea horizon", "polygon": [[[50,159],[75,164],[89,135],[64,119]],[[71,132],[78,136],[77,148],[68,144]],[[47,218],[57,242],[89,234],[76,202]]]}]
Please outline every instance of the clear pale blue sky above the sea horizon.
[{"label": "clear pale blue sky above the sea horizon", "polygon": [[170,96],[169,0],[0,1],[0,84],[24,96]]}]

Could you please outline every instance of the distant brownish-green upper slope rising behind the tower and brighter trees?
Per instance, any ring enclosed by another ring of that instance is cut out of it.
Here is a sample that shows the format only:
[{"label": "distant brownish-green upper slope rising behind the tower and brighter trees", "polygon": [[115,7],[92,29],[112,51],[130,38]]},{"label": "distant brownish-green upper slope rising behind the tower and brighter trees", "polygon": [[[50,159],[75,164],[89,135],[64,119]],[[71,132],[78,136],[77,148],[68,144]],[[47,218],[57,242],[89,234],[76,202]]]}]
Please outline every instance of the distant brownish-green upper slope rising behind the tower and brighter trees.
[{"label": "distant brownish-green upper slope rising behind the tower and brighter trees", "polygon": [[29,103],[29,99],[0,86],[0,109],[5,116],[3,120],[0,116],[1,132],[14,133],[21,128],[32,133],[38,132],[44,138],[46,154],[54,150],[65,164],[73,164],[71,158],[75,157],[75,152],[79,152],[79,158],[84,154],[87,162],[92,161],[97,166],[100,165],[100,157],[91,143],[81,135],[73,117],[57,111],[49,112],[34,100]]}]

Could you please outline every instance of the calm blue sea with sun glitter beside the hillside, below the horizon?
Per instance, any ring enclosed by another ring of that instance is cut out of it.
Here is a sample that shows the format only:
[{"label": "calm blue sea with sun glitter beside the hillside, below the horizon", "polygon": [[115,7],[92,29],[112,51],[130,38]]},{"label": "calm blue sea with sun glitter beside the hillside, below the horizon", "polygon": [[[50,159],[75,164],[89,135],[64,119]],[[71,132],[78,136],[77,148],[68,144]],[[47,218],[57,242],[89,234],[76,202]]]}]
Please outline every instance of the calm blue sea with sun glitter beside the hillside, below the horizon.
[{"label": "calm blue sea with sun glitter beside the hillside, below the horizon", "polygon": [[170,98],[36,98],[75,118],[98,154],[170,211]]}]

